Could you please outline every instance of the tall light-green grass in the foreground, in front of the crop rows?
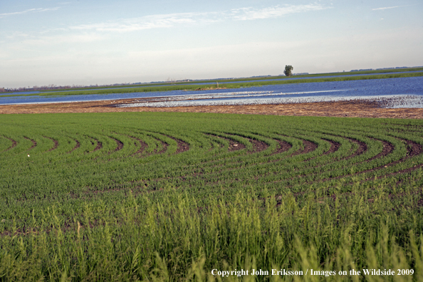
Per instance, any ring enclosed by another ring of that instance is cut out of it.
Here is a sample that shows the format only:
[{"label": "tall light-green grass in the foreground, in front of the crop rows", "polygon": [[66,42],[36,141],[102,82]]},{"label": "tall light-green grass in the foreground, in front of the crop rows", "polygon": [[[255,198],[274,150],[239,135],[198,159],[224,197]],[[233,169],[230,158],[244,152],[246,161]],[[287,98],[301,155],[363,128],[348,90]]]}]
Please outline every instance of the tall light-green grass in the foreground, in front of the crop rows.
[{"label": "tall light-green grass in the foreground, in front of the crop rows", "polygon": [[[26,229],[0,237],[1,281],[422,281],[421,196],[394,205],[378,187],[356,182],[348,194],[310,189],[239,192],[199,200],[169,189],[167,197],[134,197],[118,207],[87,204],[81,222],[45,211]],[[328,197],[331,196],[331,197]],[[101,209],[101,210],[99,210]],[[268,276],[211,274],[262,269]],[[350,276],[351,269],[413,269],[409,276]],[[336,276],[271,276],[271,269],[348,271]]]}]

